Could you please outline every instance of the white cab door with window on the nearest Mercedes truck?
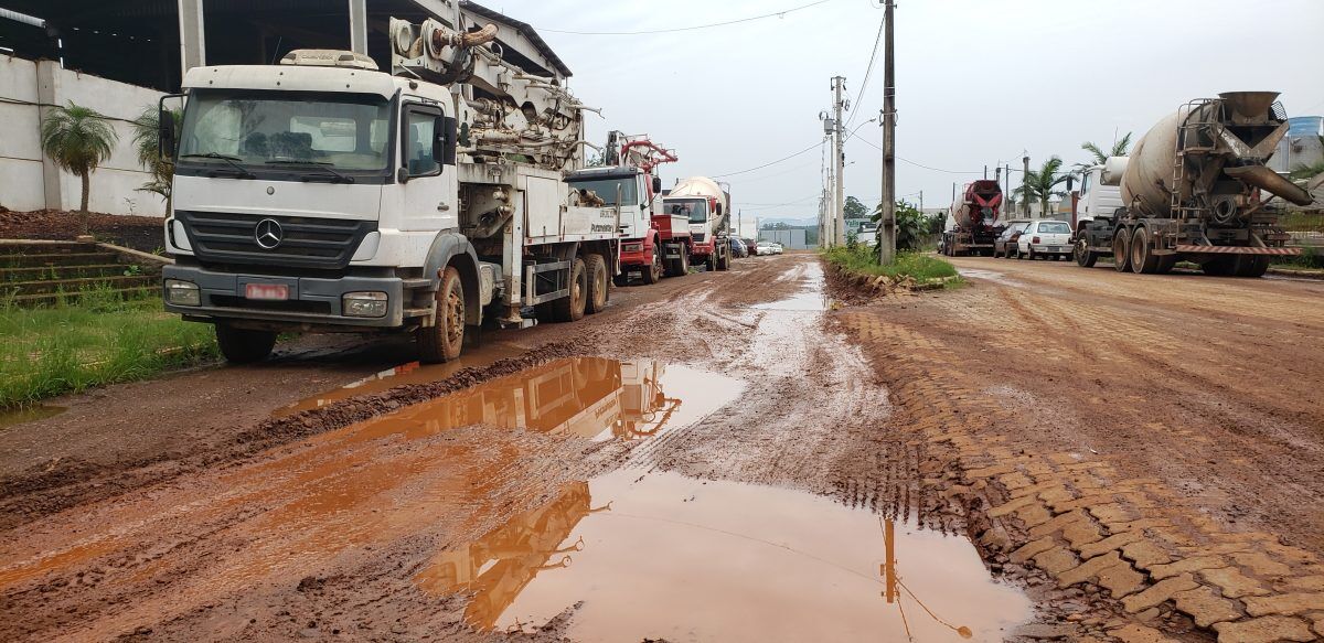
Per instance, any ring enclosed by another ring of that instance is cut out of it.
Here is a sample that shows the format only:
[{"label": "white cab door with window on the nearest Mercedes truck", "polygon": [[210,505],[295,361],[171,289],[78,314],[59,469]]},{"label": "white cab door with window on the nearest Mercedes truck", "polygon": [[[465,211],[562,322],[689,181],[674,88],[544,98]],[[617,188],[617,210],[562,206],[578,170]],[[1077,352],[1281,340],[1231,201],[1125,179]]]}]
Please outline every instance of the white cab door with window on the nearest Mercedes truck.
[{"label": "white cab door with window on the nearest Mercedes truck", "polygon": [[[400,110],[401,230],[458,226],[453,119],[438,105],[405,102]],[[449,163],[449,165],[448,165]]]}]

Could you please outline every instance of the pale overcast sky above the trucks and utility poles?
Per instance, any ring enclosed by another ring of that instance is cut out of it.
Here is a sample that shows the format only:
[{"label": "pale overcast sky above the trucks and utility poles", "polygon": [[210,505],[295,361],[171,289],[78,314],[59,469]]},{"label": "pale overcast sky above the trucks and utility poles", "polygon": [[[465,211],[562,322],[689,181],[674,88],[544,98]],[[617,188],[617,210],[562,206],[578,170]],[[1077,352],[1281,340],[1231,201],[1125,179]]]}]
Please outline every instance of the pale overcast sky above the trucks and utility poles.
[{"label": "pale overcast sky above the trucks and utility poles", "polygon": [[[730,26],[637,32],[737,20],[813,0],[489,0],[539,29],[575,77],[589,136],[609,128],[650,134],[679,163],[663,181],[736,172],[814,146],[830,78],[846,77],[851,127],[878,115],[882,48],[855,101],[883,17],[876,0],[824,4]],[[1037,167],[1050,155],[1083,160],[1080,143],[1139,139],[1178,105],[1219,91],[1282,91],[1288,115],[1324,112],[1321,0],[902,0],[896,8],[896,193],[951,202],[952,183],[985,164]],[[880,188],[875,123],[846,143],[846,193],[870,205]],[[859,140],[863,139],[863,140]],[[867,143],[866,143],[867,142]],[[814,217],[818,148],[726,177],[736,208],[760,217]],[[944,172],[947,171],[947,172]],[[951,171],[964,173],[949,173]],[[974,173],[970,173],[974,172]],[[1018,175],[1013,175],[1018,176]],[[789,204],[780,205],[777,204]]]}]

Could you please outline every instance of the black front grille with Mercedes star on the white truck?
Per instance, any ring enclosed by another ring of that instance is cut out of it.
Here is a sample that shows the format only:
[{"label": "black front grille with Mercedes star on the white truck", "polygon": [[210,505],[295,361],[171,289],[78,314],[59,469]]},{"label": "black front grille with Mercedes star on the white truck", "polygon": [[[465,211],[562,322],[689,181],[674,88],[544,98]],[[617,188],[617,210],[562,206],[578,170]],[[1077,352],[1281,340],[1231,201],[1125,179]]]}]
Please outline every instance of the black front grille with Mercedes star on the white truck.
[{"label": "black front grille with Mercedes star on the white truck", "polygon": [[[176,210],[175,218],[184,225],[199,261],[328,270],[348,266],[363,238],[377,229],[376,221],[216,212]],[[279,225],[279,242],[274,247],[258,245],[257,228],[266,220]]]}]

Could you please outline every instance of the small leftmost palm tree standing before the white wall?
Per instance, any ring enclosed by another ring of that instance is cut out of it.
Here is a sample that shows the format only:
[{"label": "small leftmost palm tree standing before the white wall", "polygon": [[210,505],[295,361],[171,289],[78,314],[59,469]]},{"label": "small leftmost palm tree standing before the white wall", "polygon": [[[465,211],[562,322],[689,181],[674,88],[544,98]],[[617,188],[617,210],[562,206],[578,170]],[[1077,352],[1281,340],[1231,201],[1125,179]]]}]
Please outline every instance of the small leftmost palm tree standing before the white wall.
[{"label": "small leftmost palm tree standing before the white wall", "polygon": [[56,165],[78,175],[82,179],[82,201],[78,213],[82,216],[83,233],[87,232],[87,193],[91,191],[91,173],[110,159],[111,146],[119,140],[115,128],[90,107],[69,102],[68,107],[52,107],[46,120],[41,123],[41,148]]}]

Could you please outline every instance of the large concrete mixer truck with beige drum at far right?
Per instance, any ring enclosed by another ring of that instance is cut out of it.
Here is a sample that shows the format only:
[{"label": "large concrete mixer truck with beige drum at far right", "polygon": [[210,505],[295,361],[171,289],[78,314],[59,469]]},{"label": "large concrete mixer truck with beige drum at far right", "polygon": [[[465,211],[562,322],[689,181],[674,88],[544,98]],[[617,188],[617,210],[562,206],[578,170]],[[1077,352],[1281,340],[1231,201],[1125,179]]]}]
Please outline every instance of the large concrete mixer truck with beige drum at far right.
[{"label": "large concrete mixer truck with beige drum at far right", "polygon": [[1264,161],[1287,134],[1276,91],[1229,91],[1192,101],[1160,120],[1129,157],[1108,159],[1103,181],[1121,187],[1111,217],[1080,226],[1076,263],[1111,255],[1117,271],[1168,273],[1180,261],[1205,274],[1260,277],[1286,247],[1274,198],[1311,202]]}]

